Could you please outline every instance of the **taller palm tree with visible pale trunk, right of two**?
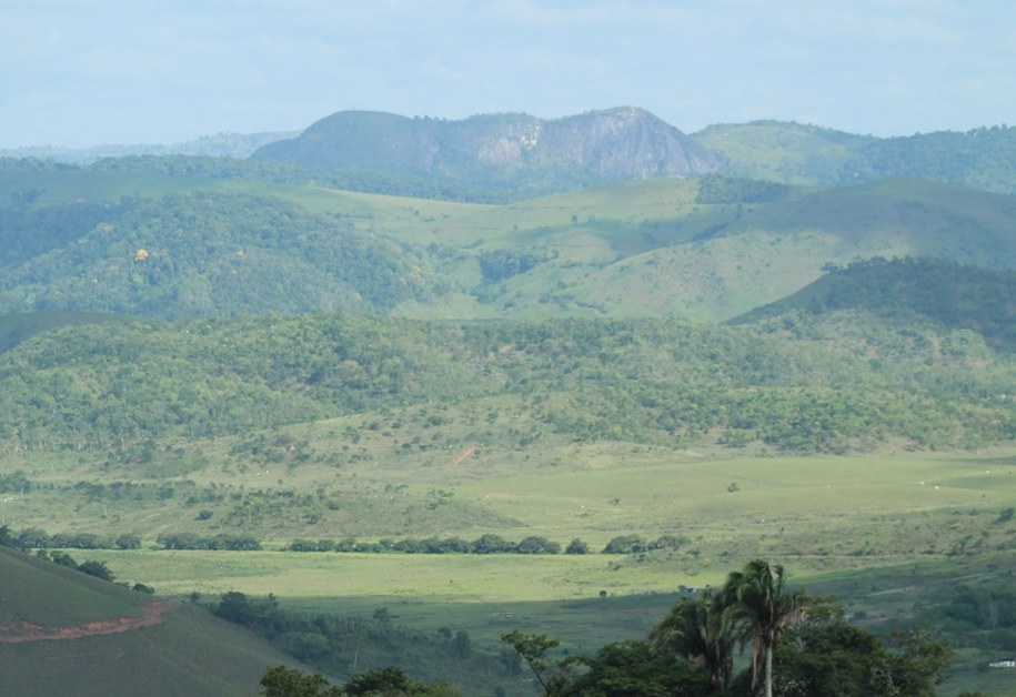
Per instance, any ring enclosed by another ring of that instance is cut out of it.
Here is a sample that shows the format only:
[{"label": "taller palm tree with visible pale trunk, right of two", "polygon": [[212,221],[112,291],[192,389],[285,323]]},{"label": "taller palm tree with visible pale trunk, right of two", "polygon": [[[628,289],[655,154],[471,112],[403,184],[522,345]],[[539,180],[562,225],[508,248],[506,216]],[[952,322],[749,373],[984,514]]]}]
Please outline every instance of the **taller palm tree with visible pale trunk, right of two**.
[{"label": "taller palm tree with visible pale trunk, right of two", "polygon": [[734,627],[742,648],[752,642],[752,688],[765,669],[765,695],[773,697],[773,651],[783,630],[803,617],[811,606],[801,590],[786,589],[783,566],[763,559],[732,572],[723,589],[724,619]]}]

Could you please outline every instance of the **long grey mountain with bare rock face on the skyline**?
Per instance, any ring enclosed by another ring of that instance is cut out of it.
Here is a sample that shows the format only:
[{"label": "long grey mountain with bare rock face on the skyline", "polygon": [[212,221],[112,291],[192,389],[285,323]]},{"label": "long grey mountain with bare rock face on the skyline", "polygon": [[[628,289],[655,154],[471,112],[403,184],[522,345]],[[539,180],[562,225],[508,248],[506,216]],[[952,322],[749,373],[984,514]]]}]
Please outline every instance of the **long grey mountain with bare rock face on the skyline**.
[{"label": "long grey mountain with bare rock face on the skyline", "polygon": [[569,184],[695,176],[717,166],[687,135],[631,107],[549,121],[526,114],[443,121],[339,112],[253,156],[450,180],[560,178]]}]

